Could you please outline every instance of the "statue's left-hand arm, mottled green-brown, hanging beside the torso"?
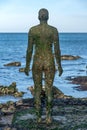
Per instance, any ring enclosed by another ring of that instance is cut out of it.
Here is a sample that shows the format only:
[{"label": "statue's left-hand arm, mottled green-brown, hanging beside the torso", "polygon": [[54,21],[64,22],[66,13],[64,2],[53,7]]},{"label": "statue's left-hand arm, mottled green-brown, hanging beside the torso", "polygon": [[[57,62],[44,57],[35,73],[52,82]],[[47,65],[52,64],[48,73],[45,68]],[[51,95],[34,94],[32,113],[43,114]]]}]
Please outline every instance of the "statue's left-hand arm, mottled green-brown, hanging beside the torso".
[{"label": "statue's left-hand arm, mottled green-brown, hanging beside the torso", "polygon": [[28,33],[28,47],[26,51],[26,67],[25,67],[25,73],[28,75],[29,72],[29,67],[30,67],[30,62],[32,58],[32,52],[33,52],[33,37],[31,30]]}]

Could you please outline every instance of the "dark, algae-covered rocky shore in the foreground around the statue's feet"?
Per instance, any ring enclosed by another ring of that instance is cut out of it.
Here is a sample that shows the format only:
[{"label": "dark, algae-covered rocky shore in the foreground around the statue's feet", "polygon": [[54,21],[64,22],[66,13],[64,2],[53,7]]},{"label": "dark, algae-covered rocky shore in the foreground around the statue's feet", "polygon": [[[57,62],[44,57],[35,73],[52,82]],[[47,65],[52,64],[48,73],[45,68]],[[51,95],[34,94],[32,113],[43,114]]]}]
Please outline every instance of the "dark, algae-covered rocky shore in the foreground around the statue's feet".
[{"label": "dark, algae-covered rocky shore in the foreground around the statue's feet", "polygon": [[87,130],[87,98],[54,98],[52,111],[52,124],[46,125],[45,107],[42,123],[37,124],[33,98],[3,104],[0,130]]}]

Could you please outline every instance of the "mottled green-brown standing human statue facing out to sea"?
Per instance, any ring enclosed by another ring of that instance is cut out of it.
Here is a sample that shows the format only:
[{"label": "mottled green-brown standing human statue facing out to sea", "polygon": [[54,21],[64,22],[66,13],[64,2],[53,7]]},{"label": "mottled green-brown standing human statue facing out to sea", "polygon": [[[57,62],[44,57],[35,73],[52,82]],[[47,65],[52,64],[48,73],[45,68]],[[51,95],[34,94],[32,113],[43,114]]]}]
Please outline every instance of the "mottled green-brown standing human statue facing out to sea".
[{"label": "mottled green-brown standing human statue facing out to sea", "polygon": [[[46,122],[52,122],[52,86],[55,76],[55,59],[58,65],[59,76],[63,70],[61,67],[61,53],[59,47],[58,31],[47,24],[49,13],[47,9],[40,9],[38,19],[40,24],[30,29],[28,33],[28,48],[26,53],[25,74],[29,73],[29,66],[34,49],[32,75],[34,80],[34,99],[37,121],[41,122],[41,91],[42,77],[45,76],[46,92]],[[54,54],[53,54],[54,48]]]}]

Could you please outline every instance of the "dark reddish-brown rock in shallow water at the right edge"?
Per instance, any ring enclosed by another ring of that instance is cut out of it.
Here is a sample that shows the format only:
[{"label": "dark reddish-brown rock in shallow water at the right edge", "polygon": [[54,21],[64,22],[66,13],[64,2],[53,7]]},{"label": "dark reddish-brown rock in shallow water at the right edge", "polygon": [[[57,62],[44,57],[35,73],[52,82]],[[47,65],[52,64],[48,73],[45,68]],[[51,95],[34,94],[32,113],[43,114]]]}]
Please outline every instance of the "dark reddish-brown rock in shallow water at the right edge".
[{"label": "dark reddish-brown rock in shallow water at the right edge", "polygon": [[87,91],[87,76],[68,77],[67,80],[70,80],[73,84],[77,84],[78,86],[75,87],[77,90]]}]

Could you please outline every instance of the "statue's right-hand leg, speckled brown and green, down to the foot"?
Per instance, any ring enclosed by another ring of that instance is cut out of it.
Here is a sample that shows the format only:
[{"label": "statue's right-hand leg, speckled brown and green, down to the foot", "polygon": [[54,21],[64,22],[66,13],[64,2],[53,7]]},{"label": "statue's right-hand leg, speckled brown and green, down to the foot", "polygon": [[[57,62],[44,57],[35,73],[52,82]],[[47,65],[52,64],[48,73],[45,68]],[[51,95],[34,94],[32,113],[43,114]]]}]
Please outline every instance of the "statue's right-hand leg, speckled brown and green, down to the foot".
[{"label": "statue's right-hand leg, speckled brown and green, down to the foot", "polygon": [[46,122],[51,123],[52,121],[52,100],[53,100],[53,93],[52,93],[52,86],[54,80],[55,70],[54,67],[47,68],[45,71],[45,86],[46,86]]}]

